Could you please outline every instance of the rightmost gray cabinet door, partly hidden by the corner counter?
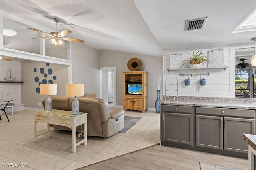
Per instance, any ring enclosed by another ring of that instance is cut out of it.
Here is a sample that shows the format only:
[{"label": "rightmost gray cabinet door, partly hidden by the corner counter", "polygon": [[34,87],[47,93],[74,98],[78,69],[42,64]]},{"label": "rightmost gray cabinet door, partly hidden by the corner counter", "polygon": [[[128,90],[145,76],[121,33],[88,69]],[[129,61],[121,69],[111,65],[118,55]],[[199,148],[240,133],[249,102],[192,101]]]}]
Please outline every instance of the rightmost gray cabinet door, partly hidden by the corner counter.
[{"label": "rightmost gray cabinet door, partly hidden by the corner counter", "polygon": [[248,153],[243,133],[255,134],[254,119],[224,117],[224,150]]}]

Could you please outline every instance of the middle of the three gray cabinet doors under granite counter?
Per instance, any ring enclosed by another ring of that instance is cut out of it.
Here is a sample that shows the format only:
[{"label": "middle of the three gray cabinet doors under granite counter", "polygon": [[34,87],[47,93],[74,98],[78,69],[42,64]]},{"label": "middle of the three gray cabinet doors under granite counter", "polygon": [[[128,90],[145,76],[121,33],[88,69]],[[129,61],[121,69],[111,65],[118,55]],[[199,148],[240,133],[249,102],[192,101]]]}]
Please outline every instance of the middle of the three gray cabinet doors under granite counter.
[{"label": "middle of the three gray cabinet doors under granite counter", "polygon": [[196,146],[223,149],[223,117],[196,115]]}]

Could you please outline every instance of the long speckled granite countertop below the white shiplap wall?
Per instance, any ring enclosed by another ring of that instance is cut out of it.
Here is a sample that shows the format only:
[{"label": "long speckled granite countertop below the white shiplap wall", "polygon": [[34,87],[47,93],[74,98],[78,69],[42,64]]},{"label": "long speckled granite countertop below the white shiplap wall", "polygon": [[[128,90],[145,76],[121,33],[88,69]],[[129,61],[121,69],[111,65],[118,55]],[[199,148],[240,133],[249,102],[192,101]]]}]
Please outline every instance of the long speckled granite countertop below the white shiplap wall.
[{"label": "long speckled granite countertop below the white shiplap wall", "polygon": [[180,97],[162,99],[160,104],[178,106],[199,106],[199,107],[220,107],[232,109],[251,109],[256,110],[255,99],[236,99],[236,98],[206,98],[206,97]]}]

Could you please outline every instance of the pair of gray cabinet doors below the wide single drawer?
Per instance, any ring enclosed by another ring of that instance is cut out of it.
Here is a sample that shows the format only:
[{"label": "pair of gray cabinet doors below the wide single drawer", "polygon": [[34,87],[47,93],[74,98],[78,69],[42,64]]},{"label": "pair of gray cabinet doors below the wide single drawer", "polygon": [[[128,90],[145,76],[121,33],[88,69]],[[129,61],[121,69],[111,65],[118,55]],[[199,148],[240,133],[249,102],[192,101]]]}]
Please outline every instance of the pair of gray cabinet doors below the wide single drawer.
[{"label": "pair of gray cabinet doors below the wide single drawer", "polygon": [[248,153],[242,135],[254,126],[255,119],[196,115],[196,146]]}]

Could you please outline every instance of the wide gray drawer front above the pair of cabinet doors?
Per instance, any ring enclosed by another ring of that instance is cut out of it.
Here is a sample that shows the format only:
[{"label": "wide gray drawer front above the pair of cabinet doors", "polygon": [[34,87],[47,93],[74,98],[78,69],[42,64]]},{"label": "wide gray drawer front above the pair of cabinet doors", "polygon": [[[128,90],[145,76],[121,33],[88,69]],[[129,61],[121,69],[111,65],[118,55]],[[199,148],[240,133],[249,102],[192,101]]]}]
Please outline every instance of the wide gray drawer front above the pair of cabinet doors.
[{"label": "wide gray drawer front above the pair of cabinet doors", "polygon": [[255,117],[254,110],[213,108],[213,107],[196,107],[196,114],[251,117],[251,118]]}]

